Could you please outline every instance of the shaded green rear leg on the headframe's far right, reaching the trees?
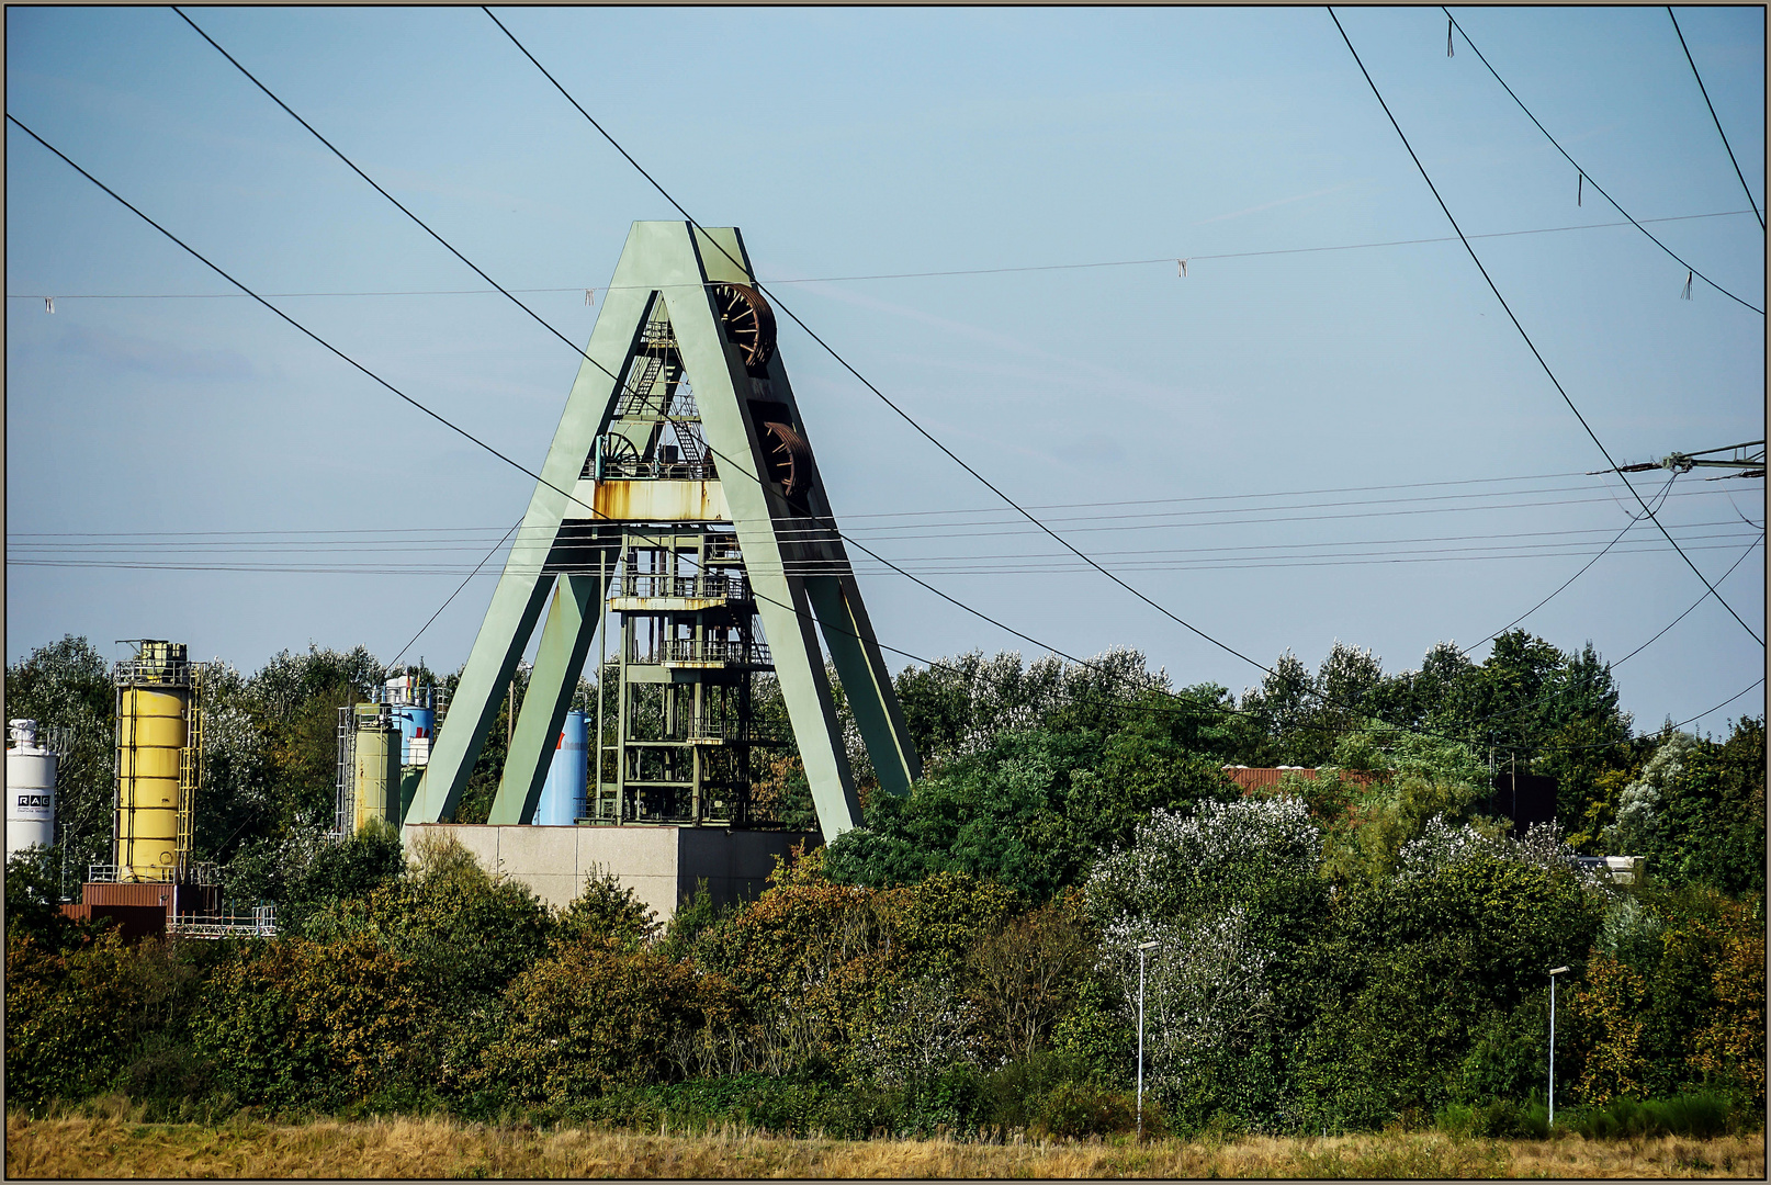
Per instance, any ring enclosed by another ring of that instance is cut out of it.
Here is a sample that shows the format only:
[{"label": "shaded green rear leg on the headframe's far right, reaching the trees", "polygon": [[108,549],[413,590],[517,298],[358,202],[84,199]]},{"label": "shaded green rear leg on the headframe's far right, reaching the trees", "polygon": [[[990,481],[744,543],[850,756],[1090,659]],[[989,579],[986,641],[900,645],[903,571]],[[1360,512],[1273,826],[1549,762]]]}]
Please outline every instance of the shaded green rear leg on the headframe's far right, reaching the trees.
[{"label": "shaded green rear leg on the headframe's far right, reaching the trees", "polygon": [[887,794],[909,794],[910,783],[923,776],[923,763],[910,744],[910,730],[903,723],[891,671],[880,655],[878,639],[861,590],[852,576],[816,576],[806,581],[818,623],[824,627],[824,645],[831,650],[836,677],[843,680],[848,709],[868,746],[873,772]]}]

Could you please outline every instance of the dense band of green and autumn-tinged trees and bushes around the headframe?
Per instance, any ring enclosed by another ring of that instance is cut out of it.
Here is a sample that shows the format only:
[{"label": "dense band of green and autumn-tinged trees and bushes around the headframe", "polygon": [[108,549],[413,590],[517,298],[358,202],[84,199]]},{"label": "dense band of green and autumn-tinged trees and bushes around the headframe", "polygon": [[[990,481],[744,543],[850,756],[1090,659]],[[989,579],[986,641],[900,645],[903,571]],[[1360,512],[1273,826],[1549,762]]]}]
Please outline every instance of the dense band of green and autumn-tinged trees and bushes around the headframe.
[{"label": "dense band of green and autumn-tinged trees and bushes around the headframe", "polygon": [[[703,891],[662,926],[607,877],[549,910],[448,841],[326,840],[335,712],[375,675],[363,650],[310,648],[211,682],[197,843],[236,902],[278,903],[275,941],[131,946],[62,919],[64,861],[101,856],[108,831],[101,755],[69,762],[57,848],[7,868],[9,1171],[14,1148],[110,1123],[90,1107],[124,1096],[131,1123],[202,1119],[241,1150],[344,1139],[248,1139],[251,1114],[423,1114],[374,1130],[425,1148],[459,1144],[460,1121],[563,1125],[462,1153],[507,1141],[499,1164],[535,1173],[636,1164],[632,1144],[567,1139],[586,1125],[746,1134],[703,1174],[836,1171],[753,1134],[1002,1144],[940,1162],[955,1173],[1502,1173],[1514,1153],[1482,1141],[1550,1134],[1560,964],[1562,1144],[1716,1137],[1764,1112],[1764,721],[1636,735],[1590,648],[1507,634],[1486,662],[1438,647],[1385,675],[1337,645],[1316,673],[1282,657],[1240,700],[1171,694],[1135,652],[909,670],[912,794],[870,790],[866,827],[781,863],[760,900]],[[12,668],[9,693],[14,714],[108,735],[83,639]],[[1491,811],[1489,747],[1558,779],[1566,833]],[[1243,794],[1238,763],[1318,776]],[[799,801],[797,758],[770,778]],[[1574,861],[1619,845],[1647,856],[1642,884]],[[1141,999],[1146,1134],[1183,1142],[1009,1155],[1135,1128]],[[1381,1130],[1440,1142],[1371,1142]],[[1268,1160],[1226,1151],[1305,1135]]]}]

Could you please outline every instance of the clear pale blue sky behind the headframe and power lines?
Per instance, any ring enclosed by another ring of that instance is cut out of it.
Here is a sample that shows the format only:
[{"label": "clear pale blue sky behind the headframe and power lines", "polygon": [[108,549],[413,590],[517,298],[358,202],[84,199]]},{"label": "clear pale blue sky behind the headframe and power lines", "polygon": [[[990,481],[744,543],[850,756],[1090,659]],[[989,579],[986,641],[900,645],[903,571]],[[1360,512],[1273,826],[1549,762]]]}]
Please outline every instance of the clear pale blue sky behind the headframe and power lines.
[{"label": "clear pale blue sky behind the headframe and power lines", "polygon": [[[1475,647],[1629,521],[1463,246],[1300,252],[1452,234],[1323,9],[499,12],[875,386],[1261,662]],[[1764,234],[1665,9],[1454,12],[1590,179],[1677,220],[1649,225],[1764,306]],[[563,289],[524,299],[570,338],[629,223],[673,216],[478,9],[191,14],[499,283]],[[1762,315],[1702,282],[1679,299],[1682,267],[1603,225],[1620,216],[1590,188],[1576,205],[1574,168],[1468,46],[1445,55],[1438,9],[1341,18],[1466,232],[1583,227],[1473,246],[1613,457],[1764,438]],[[1762,205],[1764,12],[1679,21]],[[576,354],[496,294],[446,294],[485,285],[170,9],[9,9],[7,110],[259,290],[420,292],[276,303],[517,461],[545,455]],[[832,280],[1125,260],[1155,262]],[[531,478],[266,310],[172,299],[221,292],[9,128],[9,661],[64,632],[246,670],[308,641],[391,659],[522,514]],[[880,554],[1070,654],[1259,680],[1073,570],[797,328],[781,352],[836,512]],[[1702,478],[1661,517],[1711,579],[1744,554],[1721,592],[1762,634],[1764,482]],[[889,647],[1032,650],[861,570]],[[464,661],[491,588],[469,581],[413,654]],[[1702,593],[1640,524],[1523,625],[1619,659]],[[1617,678],[1654,726],[1762,670],[1709,600]]]}]

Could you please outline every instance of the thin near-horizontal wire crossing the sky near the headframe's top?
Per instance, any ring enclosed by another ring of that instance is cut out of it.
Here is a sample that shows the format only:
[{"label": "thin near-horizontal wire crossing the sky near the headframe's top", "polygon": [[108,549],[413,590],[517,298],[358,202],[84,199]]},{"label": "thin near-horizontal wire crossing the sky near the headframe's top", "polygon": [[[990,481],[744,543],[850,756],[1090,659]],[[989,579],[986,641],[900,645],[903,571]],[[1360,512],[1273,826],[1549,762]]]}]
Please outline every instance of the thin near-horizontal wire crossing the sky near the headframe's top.
[{"label": "thin near-horizontal wire crossing the sky near the headframe's top", "polygon": [[[1759,209],[1728,209],[1716,211],[1713,214],[1674,214],[1668,218],[1643,218],[1642,223],[1661,223],[1661,221],[1695,221],[1698,218],[1732,218],[1736,214],[1757,214]],[[1472,234],[1472,239],[1511,239],[1525,234],[1562,234],[1567,230],[1606,230],[1612,227],[1631,227],[1629,221],[1589,221],[1573,227],[1534,227],[1530,230],[1491,230],[1488,234]],[[1229,252],[1224,255],[1188,255],[1187,262],[1195,264],[1201,260],[1218,260],[1218,259],[1259,259],[1264,255],[1314,255],[1319,252],[1360,252],[1369,248],[1383,246],[1419,246],[1426,243],[1456,243],[1458,236],[1440,236],[1431,239],[1388,239],[1383,243],[1341,243],[1335,246],[1291,246],[1264,252]],[[893,273],[875,273],[875,275],[852,275],[852,276],[779,276],[772,280],[760,280],[758,283],[845,283],[857,280],[926,280],[940,276],[999,276],[1025,271],[1082,271],[1089,267],[1149,267],[1153,264],[1172,266],[1174,255],[1164,255],[1162,259],[1116,259],[1100,260],[1089,264],[1029,264],[1018,267],[962,267],[955,271],[893,271]],[[606,285],[577,285],[577,287],[554,287],[554,289],[510,289],[512,292],[616,292],[629,285],[606,283]],[[264,296],[271,299],[283,298],[347,298],[347,296],[492,296],[498,289],[395,289],[395,290],[370,290],[370,292],[266,292]],[[7,292],[9,301],[41,301],[41,299],[58,299],[58,301],[232,301],[241,299],[239,292]]]}]

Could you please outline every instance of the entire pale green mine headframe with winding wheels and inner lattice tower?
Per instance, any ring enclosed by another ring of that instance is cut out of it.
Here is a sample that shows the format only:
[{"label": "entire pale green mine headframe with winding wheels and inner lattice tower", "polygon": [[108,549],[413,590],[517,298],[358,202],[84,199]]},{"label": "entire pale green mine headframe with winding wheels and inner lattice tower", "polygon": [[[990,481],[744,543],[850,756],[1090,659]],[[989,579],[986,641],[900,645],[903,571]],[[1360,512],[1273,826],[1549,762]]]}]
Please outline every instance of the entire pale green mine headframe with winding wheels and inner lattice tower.
[{"label": "entire pale green mine headframe with winding wheels and inner lattice tower", "polygon": [[749,677],[772,668],[818,825],[848,831],[861,811],[820,632],[880,790],[907,792],[921,767],[739,230],[634,223],[586,356],[404,822],[453,818],[545,609],[491,824],[535,820],[615,611],[597,822],[747,822],[747,755],[767,740],[749,726]]}]

